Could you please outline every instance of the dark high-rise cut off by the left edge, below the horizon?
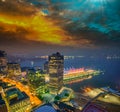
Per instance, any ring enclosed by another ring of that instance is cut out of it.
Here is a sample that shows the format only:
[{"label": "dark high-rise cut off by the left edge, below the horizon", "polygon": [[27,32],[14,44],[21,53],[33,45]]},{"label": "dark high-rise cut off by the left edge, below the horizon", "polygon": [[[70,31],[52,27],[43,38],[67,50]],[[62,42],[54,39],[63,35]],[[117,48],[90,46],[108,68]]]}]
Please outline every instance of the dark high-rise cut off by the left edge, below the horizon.
[{"label": "dark high-rise cut off by the left edge, below the horizon", "polygon": [[0,74],[6,74],[7,73],[7,54],[5,51],[0,50]]}]

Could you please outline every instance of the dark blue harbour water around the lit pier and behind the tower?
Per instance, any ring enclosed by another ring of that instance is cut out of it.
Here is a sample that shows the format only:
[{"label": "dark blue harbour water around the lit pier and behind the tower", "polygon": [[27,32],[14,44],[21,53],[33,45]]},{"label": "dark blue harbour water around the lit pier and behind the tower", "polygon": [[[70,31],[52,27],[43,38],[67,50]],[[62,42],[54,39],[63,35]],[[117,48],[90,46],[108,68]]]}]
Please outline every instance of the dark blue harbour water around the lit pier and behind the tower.
[{"label": "dark blue harbour water around the lit pier and behind the tower", "polygon": [[[34,66],[43,67],[45,60],[34,61]],[[21,66],[31,66],[31,61],[21,62]],[[93,77],[92,79],[84,80],[82,82],[69,84],[75,91],[79,91],[83,87],[104,87],[109,86],[120,90],[120,59],[106,59],[106,58],[74,58],[64,61],[64,68],[91,68],[104,71],[104,74]]]}]

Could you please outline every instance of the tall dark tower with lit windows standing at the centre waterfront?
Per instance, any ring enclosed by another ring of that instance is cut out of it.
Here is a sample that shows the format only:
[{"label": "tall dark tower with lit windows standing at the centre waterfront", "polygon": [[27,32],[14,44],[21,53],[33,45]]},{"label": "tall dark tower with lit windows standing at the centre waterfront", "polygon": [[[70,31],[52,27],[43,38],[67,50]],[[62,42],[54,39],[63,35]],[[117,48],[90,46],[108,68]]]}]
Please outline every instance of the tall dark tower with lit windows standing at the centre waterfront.
[{"label": "tall dark tower with lit windows standing at the centre waterfront", "polygon": [[57,94],[63,86],[64,56],[59,52],[52,54],[48,58],[49,90]]}]

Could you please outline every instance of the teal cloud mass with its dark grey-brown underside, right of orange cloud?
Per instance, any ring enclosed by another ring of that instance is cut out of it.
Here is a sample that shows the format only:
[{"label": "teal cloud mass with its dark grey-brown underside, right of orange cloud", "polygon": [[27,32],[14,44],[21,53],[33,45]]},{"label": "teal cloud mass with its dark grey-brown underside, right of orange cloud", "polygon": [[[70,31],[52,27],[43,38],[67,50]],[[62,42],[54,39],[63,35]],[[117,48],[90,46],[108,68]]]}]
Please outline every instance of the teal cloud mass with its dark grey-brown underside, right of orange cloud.
[{"label": "teal cloud mass with its dark grey-brown underside, right of orange cloud", "polygon": [[87,45],[118,45],[120,42],[119,0],[26,1],[53,18],[71,35],[73,41],[85,42],[85,45],[86,42]]}]

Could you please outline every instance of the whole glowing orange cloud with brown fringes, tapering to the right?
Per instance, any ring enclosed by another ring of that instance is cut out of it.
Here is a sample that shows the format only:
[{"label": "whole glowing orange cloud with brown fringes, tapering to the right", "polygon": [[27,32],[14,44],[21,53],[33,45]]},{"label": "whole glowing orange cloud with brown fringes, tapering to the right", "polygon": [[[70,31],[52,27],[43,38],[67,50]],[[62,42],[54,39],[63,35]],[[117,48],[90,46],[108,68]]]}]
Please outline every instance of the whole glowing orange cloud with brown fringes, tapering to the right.
[{"label": "whole glowing orange cloud with brown fringes, tapering to the right", "polygon": [[[8,3],[6,4],[8,7]],[[0,8],[0,30],[2,32],[15,34],[14,37],[20,40],[24,38],[62,46],[80,46],[84,43],[89,44],[89,41],[86,39],[75,40],[74,37],[71,37],[61,27],[55,25],[56,20],[44,16],[43,12],[40,12],[40,10],[33,6],[27,8],[28,5],[26,6],[25,3],[18,4],[17,2],[10,2],[10,5],[13,5],[11,7],[16,5],[16,11],[14,9],[14,13],[12,13],[13,9],[9,10],[6,8],[6,11],[2,12]],[[31,10],[32,8],[33,11]],[[2,10],[3,9],[2,7]],[[24,9],[25,12],[23,14]],[[25,15],[27,12],[29,14]]]}]

